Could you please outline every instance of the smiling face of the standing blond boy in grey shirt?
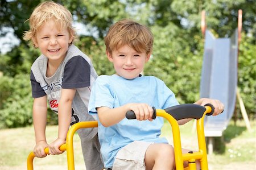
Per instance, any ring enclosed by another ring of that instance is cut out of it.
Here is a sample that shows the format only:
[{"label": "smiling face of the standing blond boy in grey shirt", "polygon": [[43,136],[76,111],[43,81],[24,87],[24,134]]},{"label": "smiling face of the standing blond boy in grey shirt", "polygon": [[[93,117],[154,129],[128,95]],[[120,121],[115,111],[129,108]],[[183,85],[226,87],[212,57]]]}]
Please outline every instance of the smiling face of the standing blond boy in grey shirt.
[{"label": "smiling face of the standing blond boy in grey shirt", "polygon": [[36,32],[36,37],[32,40],[43,55],[48,57],[49,62],[60,63],[72,39],[66,27],[58,27],[53,19],[49,19],[40,27]]}]

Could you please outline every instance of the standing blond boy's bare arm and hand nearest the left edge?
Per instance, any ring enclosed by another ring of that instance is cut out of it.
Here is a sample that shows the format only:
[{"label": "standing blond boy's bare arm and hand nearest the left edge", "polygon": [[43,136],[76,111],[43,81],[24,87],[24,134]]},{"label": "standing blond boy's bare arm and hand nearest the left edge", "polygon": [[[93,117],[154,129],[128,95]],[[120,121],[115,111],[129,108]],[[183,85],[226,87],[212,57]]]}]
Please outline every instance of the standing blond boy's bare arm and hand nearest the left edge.
[{"label": "standing blond boy's bare arm and hand nearest the left edge", "polygon": [[35,129],[36,146],[34,154],[36,157],[45,157],[44,148],[48,147],[46,142],[46,120],[47,120],[47,98],[46,96],[35,98],[33,103],[33,124]]}]

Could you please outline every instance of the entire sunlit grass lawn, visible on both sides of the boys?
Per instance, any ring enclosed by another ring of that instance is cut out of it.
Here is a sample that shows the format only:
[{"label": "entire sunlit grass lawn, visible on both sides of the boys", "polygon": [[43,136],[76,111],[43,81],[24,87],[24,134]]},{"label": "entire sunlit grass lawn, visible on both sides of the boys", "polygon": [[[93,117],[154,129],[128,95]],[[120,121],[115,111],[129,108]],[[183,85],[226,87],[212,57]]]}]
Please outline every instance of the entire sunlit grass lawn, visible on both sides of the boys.
[{"label": "entire sunlit grass lawn, visible on both sides of the boys", "polygon": [[[237,125],[230,122],[224,131],[223,138],[216,138],[217,150],[208,155],[209,169],[256,169],[256,120],[251,121],[252,132],[246,130],[245,123],[238,121]],[[57,126],[47,126],[49,142],[57,136]],[[168,123],[162,129],[163,136],[172,143],[171,128]],[[181,146],[197,150],[197,136],[193,130],[193,122],[180,126]],[[34,128],[12,128],[0,130],[0,169],[20,170],[27,169],[26,159],[34,147]],[[80,146],[79,136],[74,136],[74,151],[76,169],[85,169]],[[67,156],[49,155],[43,159],[34,159],[34,169],[67,169]]]}]

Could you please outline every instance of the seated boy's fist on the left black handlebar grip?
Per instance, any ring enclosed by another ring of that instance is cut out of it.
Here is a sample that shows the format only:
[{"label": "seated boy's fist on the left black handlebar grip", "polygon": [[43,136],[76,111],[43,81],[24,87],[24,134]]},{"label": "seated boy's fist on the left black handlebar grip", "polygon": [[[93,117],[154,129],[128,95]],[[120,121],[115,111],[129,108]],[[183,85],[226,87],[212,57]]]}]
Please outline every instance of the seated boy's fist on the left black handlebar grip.
[{"label": "seated boy's fist on the left black handlebar grip", "polygon": [[132,103],[130,110],[133,110],[138,121],[152,121],[153,109],[146,103]]}]

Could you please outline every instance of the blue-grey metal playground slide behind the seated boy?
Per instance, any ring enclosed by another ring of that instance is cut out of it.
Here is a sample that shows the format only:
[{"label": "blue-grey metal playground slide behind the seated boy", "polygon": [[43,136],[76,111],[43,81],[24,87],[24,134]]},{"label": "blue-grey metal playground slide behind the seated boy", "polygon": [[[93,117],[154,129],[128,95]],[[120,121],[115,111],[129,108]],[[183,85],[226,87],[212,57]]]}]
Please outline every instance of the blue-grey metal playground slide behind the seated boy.
[{"label": "blue-grey metal playground slide behind the seated boy", "polygon": [[231,38],[214,38],[205,30],[200,97],[219,99],[222,114],[205,118],[205,136],[222,136],[236,105],[238,29]]}]

